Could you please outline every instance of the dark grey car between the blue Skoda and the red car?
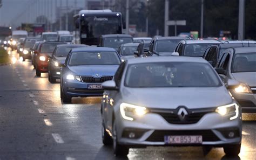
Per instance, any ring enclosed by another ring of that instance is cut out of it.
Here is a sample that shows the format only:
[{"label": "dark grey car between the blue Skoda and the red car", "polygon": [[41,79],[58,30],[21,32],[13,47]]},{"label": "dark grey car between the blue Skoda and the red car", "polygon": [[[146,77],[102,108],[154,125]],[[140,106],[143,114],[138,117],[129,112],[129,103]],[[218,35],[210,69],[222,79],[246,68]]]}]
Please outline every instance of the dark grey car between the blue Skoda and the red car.
[{"label": "dark grey car between the blue Skoda and the red car", "polygon": [[48,68],[48,80],[51,83],[55,83],[56,79],[60,79],[60,67],[65,63],[66,57],[68,56],[72,48],[86,47],[87,45],[57,45],[49,58]]}]

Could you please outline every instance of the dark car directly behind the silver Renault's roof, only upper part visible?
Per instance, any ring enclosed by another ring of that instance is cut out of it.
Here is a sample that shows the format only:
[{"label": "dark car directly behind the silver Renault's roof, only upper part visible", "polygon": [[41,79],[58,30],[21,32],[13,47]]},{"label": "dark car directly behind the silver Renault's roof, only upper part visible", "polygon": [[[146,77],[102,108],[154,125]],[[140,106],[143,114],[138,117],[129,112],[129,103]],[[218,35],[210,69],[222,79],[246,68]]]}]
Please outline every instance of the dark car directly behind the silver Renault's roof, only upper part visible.
[{"label": "dark car directly behind the silver Renault's roof, only upper part visible", "polygon": [[177,44],[188,37],[155,37],[152,39],[149,52],[145,52],[143,57],[152,55],[171,55]]}]

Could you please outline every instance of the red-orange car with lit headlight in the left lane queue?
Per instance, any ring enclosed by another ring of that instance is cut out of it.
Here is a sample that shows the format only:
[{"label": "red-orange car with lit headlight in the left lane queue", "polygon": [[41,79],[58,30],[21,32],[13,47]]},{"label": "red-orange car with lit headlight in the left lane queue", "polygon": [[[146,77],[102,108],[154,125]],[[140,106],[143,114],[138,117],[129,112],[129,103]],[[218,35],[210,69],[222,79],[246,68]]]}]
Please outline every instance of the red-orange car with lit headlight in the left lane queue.
[{"label": "red-orange car with lit headlight in the left lane queue", "polygon": [[36,69],[36,76],[41,76],[41,73],[48,73],[49,58],[51,57],[55,47],[61,44],[66,43],[59,41],[48,41],[39,44],[38,50],[33,53],[33,63]]}]

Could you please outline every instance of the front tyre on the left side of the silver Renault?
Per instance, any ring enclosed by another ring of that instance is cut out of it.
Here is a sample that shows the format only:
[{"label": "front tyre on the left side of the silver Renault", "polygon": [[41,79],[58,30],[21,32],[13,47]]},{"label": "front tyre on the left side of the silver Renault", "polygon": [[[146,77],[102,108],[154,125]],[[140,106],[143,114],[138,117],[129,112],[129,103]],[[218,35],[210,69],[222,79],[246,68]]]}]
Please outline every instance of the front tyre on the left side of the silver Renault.
[{"label": "front tyre on the left side of the silver Renault", "polygon": [[114,120],[113,123],[113,150],[114,155],[116,156],[124,157],[129,154],[129,147],[126,147],[125,145],[120,145],[118,143],[116,120]]}]

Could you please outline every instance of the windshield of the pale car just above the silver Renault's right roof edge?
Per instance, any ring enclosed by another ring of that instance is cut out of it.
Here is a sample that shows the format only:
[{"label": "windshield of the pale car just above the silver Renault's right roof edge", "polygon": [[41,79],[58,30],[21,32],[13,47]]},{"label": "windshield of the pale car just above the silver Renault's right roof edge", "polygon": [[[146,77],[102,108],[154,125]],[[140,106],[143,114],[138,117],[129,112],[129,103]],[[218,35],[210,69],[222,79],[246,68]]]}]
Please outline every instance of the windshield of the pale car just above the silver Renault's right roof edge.
[{"label": "windshield of the pale car just above the silver Renault's right roof edge", "polygon": [[206,48],[213,44],[187,44],[184,55],[190,57],[203,57]]}]

